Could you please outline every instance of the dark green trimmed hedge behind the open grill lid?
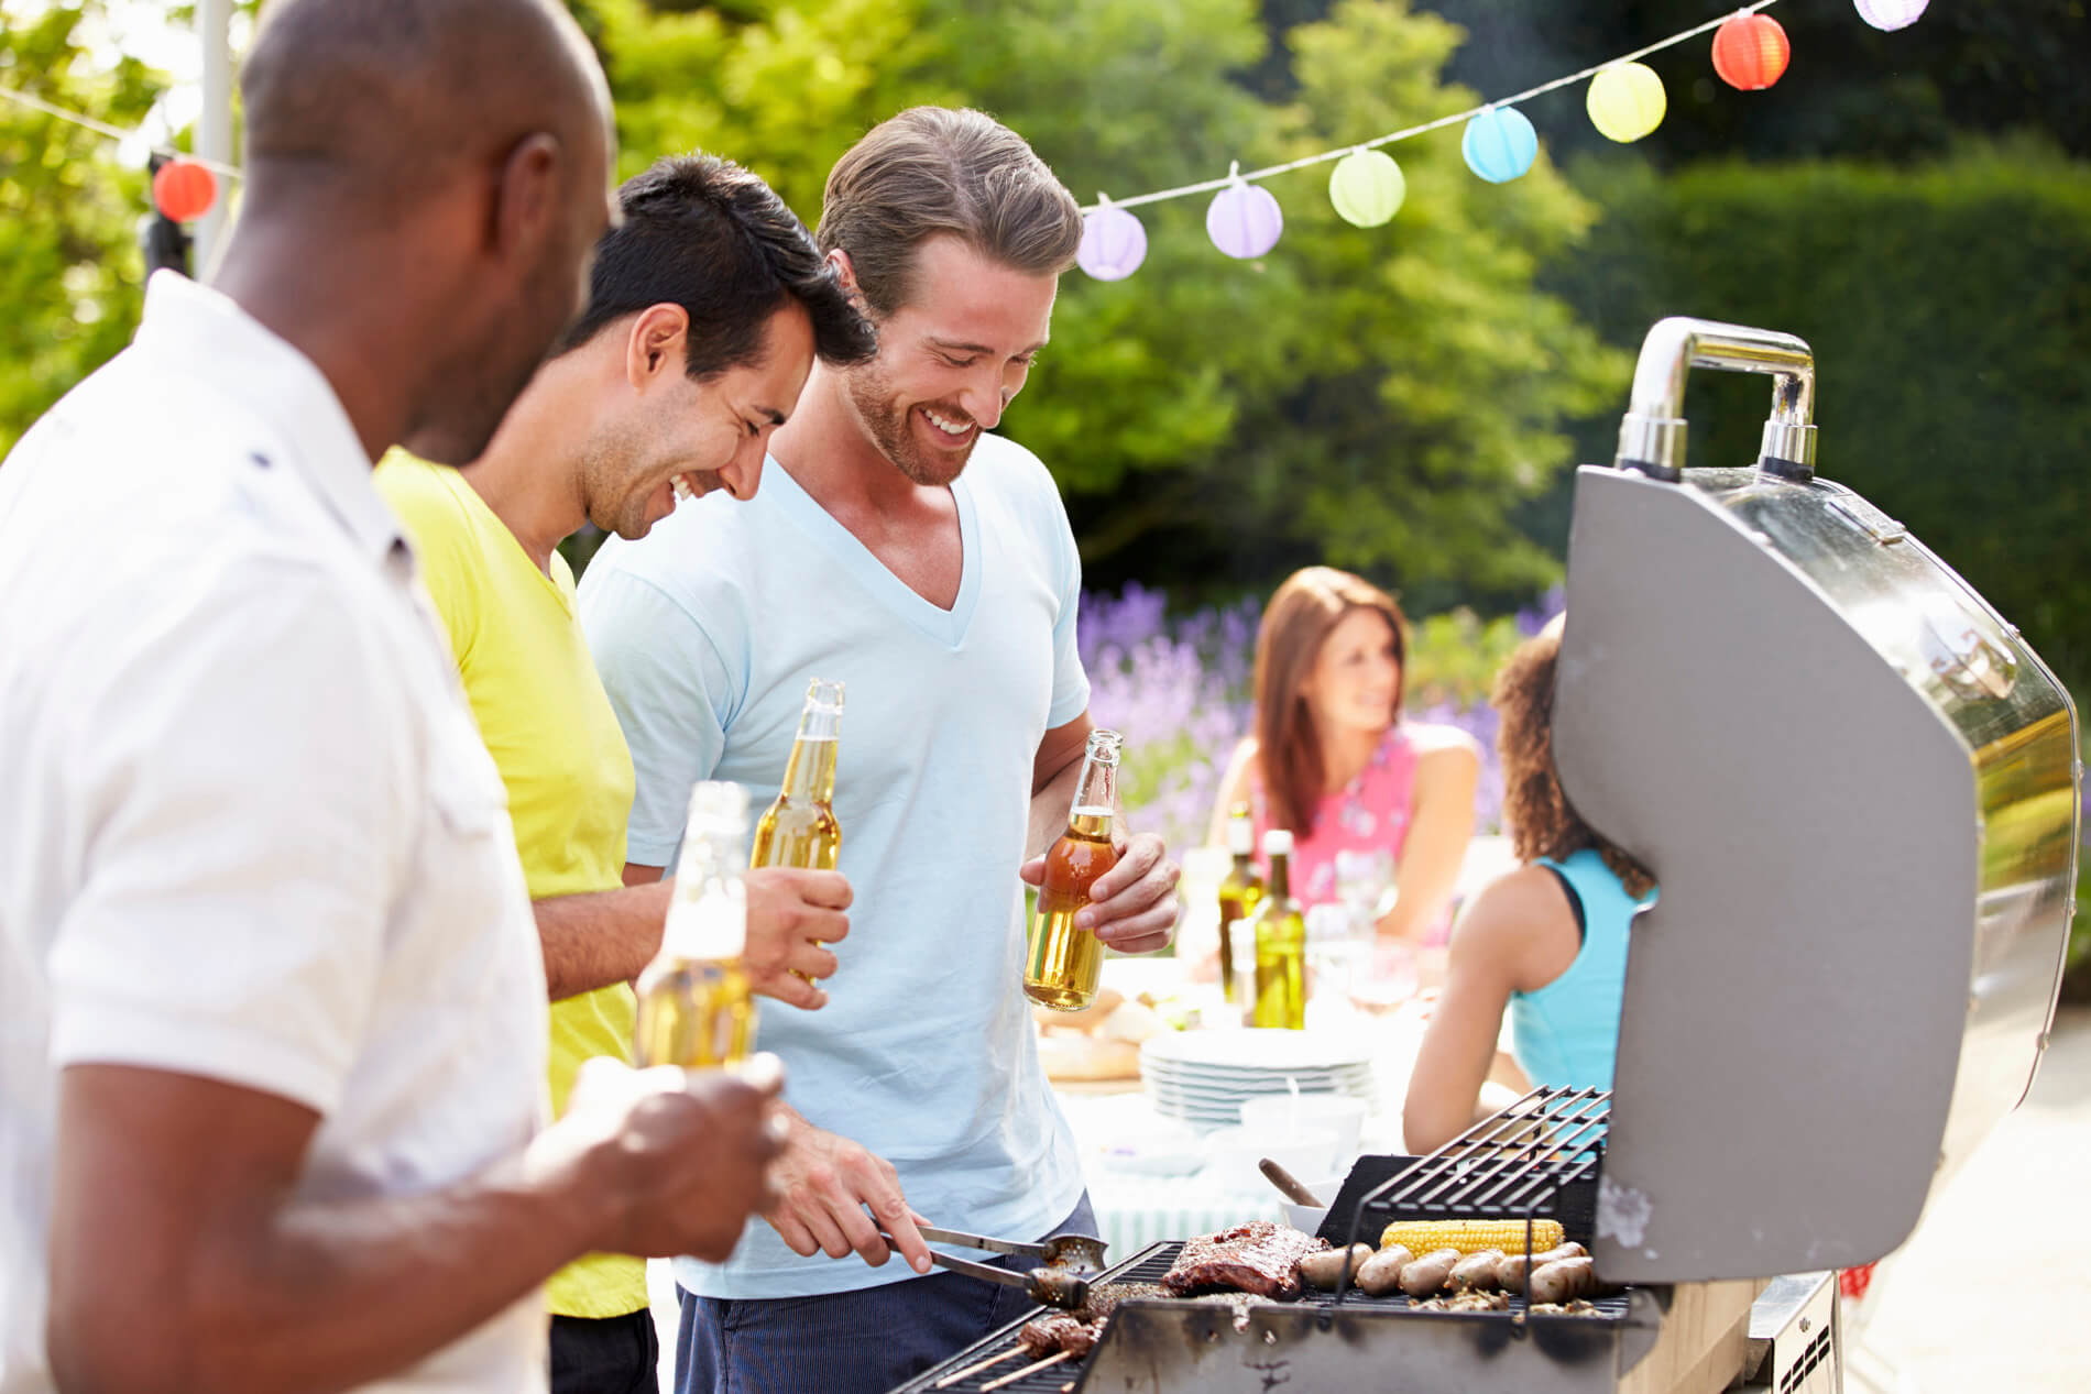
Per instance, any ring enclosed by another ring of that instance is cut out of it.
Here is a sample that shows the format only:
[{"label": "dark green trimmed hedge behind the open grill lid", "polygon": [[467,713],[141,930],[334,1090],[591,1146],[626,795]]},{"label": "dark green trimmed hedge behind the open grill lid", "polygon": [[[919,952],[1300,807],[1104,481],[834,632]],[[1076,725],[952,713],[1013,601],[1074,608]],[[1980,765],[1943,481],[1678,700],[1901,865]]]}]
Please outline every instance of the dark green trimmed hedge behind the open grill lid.
[{"label": "dark green trimmed hedge behind the open grill lid", "polygon": [[[1552,288],[1614,345],[1690,313],[1815,349],[1823,477],[1901,518],[2091,696],[2091,163],[2035,142],[1915,169],[1581,161],[1602,209]],[[1692,464],[1756,456],[1763,378],[1698,374]],[[1621,403],[1621,410],[1625,403]],[[1618,414],[1585,422],[1606,462]],[[1564,512],[1545,527],[1562,525]],[[1554,539],[1560,541],[1560,539]],[[2072,986],[2091,989],[2091,884]]]}]

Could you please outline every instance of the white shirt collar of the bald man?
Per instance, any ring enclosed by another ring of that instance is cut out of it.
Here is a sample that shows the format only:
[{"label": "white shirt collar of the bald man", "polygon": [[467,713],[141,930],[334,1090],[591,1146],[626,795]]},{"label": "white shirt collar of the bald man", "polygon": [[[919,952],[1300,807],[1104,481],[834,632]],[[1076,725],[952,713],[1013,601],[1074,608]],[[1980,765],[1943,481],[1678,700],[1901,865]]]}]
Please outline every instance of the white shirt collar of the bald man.
[{"label": "white shirt collar of the bald man", "polygon": [[[178,272],[144,291],[138,349],[211,385],[261,416],[289,464],[372,556],[404,548],[399,520],[370,479],[370,458],[326,374],[232,297]],[[270,464],[276,464],[272,460]]]}]

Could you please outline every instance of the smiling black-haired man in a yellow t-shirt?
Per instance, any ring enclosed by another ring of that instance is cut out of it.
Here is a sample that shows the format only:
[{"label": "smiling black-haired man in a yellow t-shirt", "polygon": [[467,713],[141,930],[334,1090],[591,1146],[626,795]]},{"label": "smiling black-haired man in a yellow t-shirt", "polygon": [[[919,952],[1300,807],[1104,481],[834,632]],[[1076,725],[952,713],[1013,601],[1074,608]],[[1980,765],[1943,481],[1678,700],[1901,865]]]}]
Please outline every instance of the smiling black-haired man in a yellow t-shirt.
[{"label": "smiling black-haired man in a yellow t-shirt", "polygon": [[[583,1060],[629,1055],[629,982],[661,943],[671,884],[623,884],[631,754],[556,548],[583,522],[642,537],[677,489],[753,497],[815,353],[853,364],[874,349],[807,230],[753,173],[663,159],[619,203],[588,309],[487,451],[462,470],[395,454],[376,472],[508,786],[552,995],[558,1112]],[[834,872],[751,874],[757,991],[820,1007],[815,980],[836,968],[822,943],[849,932],[847,905]],[[657,1388],[642,1260],[592,1254],[552,1279],[548,1300],[554,1394]]]}]

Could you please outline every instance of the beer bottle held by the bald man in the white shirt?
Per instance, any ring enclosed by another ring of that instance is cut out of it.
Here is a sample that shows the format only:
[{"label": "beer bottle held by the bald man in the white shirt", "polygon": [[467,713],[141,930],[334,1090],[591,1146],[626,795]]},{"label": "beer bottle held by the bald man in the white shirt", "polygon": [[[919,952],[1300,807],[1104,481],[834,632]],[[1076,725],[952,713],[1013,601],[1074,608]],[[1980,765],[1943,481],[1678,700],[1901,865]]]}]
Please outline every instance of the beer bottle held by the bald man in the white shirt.
[{"label": "beer bottle held by the bald man in the white shirt", "polygon": [[675,892],[661,953],[640,974],[640,1066],[705,1070],[755,1049],[755,997],[742,953],[749,901],[742,884],[749,792],[705,782],[690,792],[690,823],[675,859]]}]

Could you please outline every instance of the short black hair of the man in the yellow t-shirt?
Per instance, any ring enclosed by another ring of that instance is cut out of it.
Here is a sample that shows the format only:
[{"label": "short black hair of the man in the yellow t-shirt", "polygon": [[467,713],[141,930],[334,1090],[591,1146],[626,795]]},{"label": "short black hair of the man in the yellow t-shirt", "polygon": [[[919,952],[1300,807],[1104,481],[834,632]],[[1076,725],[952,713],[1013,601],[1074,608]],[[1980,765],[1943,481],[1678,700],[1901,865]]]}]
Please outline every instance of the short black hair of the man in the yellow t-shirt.
[{"label": "short black hair of the man in the yellow t-shirt", "polygon": [[878,351],[870,320],[776,190],[717,155],[667,155],[617,190],[623,224],[596,242],[588,309],[558,351],[650,305],[690,316],[688,372],[711,378],[753,364],[763,328],[797,301],[813,322],[813,351],[834,366]]}]

